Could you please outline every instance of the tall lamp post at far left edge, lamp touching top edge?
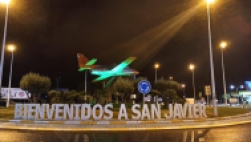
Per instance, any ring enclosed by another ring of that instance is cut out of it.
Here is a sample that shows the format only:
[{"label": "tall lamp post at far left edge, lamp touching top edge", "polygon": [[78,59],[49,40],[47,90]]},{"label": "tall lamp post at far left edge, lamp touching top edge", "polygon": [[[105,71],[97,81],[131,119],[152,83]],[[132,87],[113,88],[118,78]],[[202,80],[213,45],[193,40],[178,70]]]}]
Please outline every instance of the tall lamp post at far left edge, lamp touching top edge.
[{"label": "tall lamp post at far left edge, lamp touching top edge", "polygon": [[5,12],[5,23],[4,23],[4,35],[3,35],[3,44],[1,50],[1,61],[0,61],[0,95],[2,95],[2,79],[3,79],[3,64],[4,64],[4,49],[6,43],[6,36],[7,36],[7,25],[8,25],[8,13],[9,13],[9,3],[10,0],[0,0],[0,2],[6,4],[6,12]]}]

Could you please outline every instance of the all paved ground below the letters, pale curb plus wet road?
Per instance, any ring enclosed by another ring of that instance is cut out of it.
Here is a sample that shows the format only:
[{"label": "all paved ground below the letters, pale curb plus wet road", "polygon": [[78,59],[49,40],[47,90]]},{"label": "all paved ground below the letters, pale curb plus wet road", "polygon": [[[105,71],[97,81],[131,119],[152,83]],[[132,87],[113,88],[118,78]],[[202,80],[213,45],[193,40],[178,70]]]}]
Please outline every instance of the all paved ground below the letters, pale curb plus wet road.
[{"label": "all paved ground below the letters, pale curb plus wet road", "polygon": [[201,120],[119,124],[114,121],[0,120],[0,142],[249,142],[250,129],[251,113]]}]

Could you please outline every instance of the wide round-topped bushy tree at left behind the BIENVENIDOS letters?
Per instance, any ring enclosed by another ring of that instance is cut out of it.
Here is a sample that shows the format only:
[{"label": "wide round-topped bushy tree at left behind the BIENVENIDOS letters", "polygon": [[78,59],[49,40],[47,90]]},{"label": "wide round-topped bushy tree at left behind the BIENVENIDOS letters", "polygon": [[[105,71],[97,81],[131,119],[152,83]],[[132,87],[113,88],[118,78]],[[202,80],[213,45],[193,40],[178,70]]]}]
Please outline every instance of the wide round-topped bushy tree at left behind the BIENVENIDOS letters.
[{"label": "wide round-topped bushy tree at left behind the BIENVENIDOS letters", "polygon": [[51,80],[47,76],[38,73],[25,74],[20,81],[20,88],[27,90],[32,102],[37,102],[41,93],[47,92],[51,86]]}]

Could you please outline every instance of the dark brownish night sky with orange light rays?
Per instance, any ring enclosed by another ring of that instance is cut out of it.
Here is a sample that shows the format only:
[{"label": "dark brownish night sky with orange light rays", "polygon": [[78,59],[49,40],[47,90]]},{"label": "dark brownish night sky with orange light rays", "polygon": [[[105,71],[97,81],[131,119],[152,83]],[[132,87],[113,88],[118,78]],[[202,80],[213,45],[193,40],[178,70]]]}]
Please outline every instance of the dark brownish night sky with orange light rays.
[{"label": "dark brownish night sky with orange light rays", "polygon": [[[224,0],[211,5],[212,46],[216,92],[221,94],[221,40],[227,86],[251,80],[251,1]],[[3,35],[5,6],[0,6]],[[197,92],[210,84],[206,5],[203,0],[12,0],[7,43],[14,53],[13,87],[29,72],[55,77],[60,87],[76,89],[84,81],[78,73],[76,53],[97,58],[98,64],[120,63],[136,56],[130,67],[139,76],[158,76],[186,84],[192,96],[194,63]],[[3,86],[8,84],[11,54],[5,52]],[[89,80],[91,82],[91,80]]]}]

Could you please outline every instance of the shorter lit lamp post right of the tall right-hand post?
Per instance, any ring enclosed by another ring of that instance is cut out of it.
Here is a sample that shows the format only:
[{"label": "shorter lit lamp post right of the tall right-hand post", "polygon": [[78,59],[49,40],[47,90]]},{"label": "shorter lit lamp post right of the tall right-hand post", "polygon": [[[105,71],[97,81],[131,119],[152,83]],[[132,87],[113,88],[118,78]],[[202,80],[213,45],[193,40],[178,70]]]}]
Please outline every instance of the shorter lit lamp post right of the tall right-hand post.
[{"label": "shorter lit lamp post right of the tall right-hand post", "polygon": [[224,67],[223,50],[226,48],[226,46],[227,46],[226,42],[222,41],[220,43],[220,47],[221,47],[222,79],[223,79],[223,89],[224,89],[225,105],[227,105],[227,89],[226,89],[226,77],[225,77],[225,67]]}]

